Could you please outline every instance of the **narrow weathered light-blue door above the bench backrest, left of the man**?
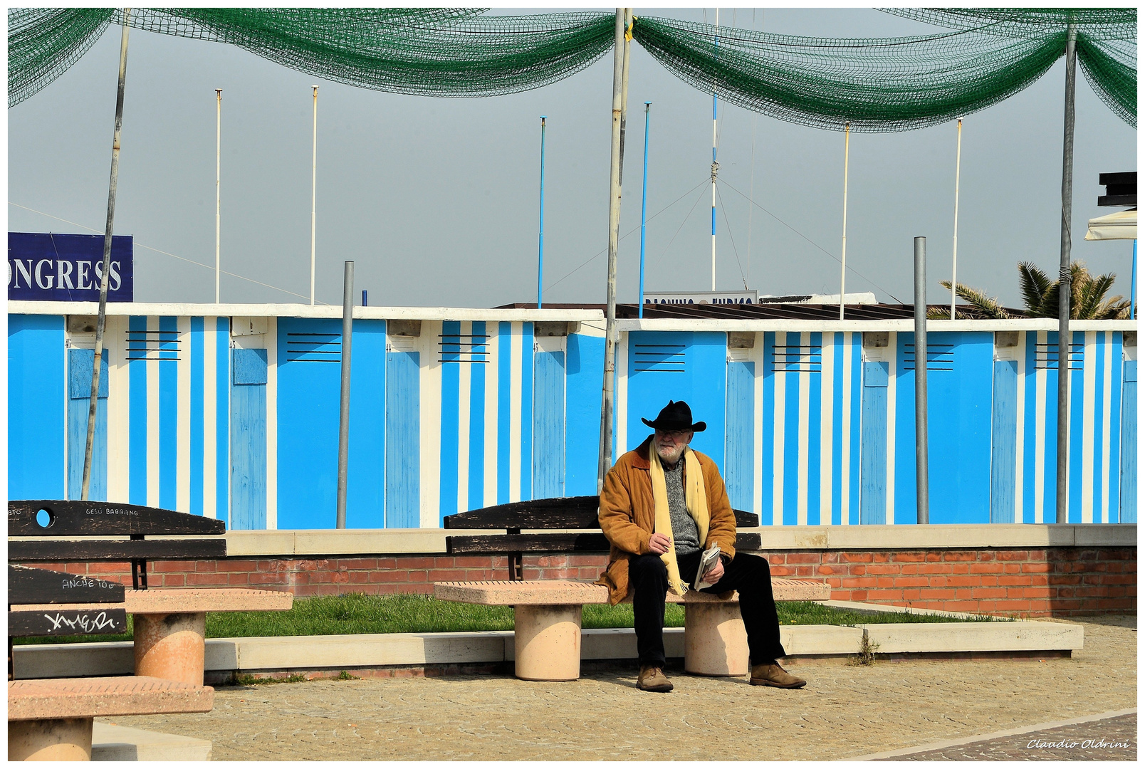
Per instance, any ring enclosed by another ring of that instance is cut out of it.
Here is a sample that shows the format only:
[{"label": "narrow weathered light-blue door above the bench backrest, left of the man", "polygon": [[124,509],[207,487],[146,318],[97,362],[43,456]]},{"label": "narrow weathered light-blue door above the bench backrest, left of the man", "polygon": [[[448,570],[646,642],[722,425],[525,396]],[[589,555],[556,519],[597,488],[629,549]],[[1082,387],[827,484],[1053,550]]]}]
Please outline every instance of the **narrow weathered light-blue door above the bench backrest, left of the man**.
[{"label": "narrow weathered light-blue door above the bench backrest, left of the man", "polygon": [[532,498],[563,497],[564,351],[534,352],[532,382]]}]

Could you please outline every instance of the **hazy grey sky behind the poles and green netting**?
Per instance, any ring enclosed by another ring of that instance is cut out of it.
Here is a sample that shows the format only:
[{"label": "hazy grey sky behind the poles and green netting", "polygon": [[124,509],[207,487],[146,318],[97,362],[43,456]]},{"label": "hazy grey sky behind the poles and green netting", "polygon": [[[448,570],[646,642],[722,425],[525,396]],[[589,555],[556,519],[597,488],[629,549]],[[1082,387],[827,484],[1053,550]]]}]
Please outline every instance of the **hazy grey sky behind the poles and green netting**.
[{"label": "hazy grey sky behind the poles and green netting", "polygon": [[[635,14],[714,18],[712,8]],[[721,8],[720,24],[811,37],[934,29],[858,8]],[[63,77],[8,110],[9,230],[103,231],[118,54],[119,27],[109,27]],[[535,302],[540,114],[548,116],[544,299],[603,302],[611,66],[609,53],[537,90],[435,98],[357,89],[236,47],[132,30],[116,233],[135,236],[135,299],[214,300],[214,89],[222,88],[222,265],[274,286],[223,275],[222,301],[308,301],[317,84],[319,302],[341,302],[344,260],[355,261],[356,300],[365,288],[370,304]],[[706,290],[711,95],[639,43],[630,78],[618,301],[635,301],[638,291],[646,101],[648,215],[662,212],[648,223],[646,288]],[[1017,262],[1057,273],[1064,81],[1059,60],[1030,88],[963,122],[958,280],[1009,306],[1020,307]],[[724,104],[720,124],[718,288],[747,279],[765,294],[837,293],[843,134]],[[851,136],[848,292],[910,302],[913,238],[926,236],[930,301],[948,298],[938,282],[950,276],[955,141],[953,121]],[[1136,129],[1098,100],[1079,66],[1073,255],[1093,272],[1116,272],[1111,293],[1126,296],[1131,243],[1082,238],[1088,219],[1114,211],[1096,205],[1098,174],[1135,171],[1136,144]],[[735,190],[752,189],[759,207],[749,232],[749,204]]]}]

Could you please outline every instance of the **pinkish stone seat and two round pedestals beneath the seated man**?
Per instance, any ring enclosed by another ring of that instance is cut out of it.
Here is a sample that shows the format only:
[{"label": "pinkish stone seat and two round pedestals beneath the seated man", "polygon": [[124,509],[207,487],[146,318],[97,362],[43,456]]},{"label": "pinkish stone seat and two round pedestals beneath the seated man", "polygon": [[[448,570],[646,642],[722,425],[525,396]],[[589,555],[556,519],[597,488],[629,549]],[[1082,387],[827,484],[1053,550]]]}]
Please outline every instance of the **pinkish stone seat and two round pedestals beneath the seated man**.
[{"label": "pinkish stone seat and two round pedestals beneath the seated man", "polygon": [[[829,601],[826,581],[772,579],[776,601]],[[434,597],[482,605],[514,607],[516,676],[530,681],[575,681],[581,676],[581,608],[608,603],[608,588],[571,579],[434,582]],[[685,607],[684,667],[700,675],[745,675],[748,635],[739,594],[727,598],[688,590],[669,593]],[[632,600],[631,593],[625,602]]]}]

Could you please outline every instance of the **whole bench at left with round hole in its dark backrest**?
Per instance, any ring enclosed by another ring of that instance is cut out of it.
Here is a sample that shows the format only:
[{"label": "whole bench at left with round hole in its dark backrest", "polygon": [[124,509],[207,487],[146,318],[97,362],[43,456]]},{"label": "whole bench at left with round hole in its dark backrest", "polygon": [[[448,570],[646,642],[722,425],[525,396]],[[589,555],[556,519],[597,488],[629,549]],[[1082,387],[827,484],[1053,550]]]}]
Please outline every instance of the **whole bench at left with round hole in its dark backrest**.
[{"label": "whole bench at left with round hole in its dark backrest", "polygon": [[[123,608],[133,616],[135,674],[202,685],[206,612],[285,610],[278,590],[148,589],[149,561],[227,557],[226,524],[141,505],[76,500],[8,502],[9,563],[131,563]],[[32,610],[40,609],[33,607]]]}]

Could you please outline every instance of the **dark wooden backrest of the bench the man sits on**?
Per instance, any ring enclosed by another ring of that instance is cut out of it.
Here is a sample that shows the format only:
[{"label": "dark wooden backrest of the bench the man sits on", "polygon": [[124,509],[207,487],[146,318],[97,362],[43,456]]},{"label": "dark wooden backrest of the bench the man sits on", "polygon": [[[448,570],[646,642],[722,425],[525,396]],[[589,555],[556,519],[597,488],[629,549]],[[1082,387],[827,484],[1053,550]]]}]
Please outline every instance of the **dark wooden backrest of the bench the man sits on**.
[{"label": "dark wooden backrest of the bench the man sits on", "polygon": [[[607,553],[608,539],[600,531],[597,512],[600,498],[556,497],[523,502],[495,505],[476,510],[448,515],[445,529],[502,529],[498,534],[455,534],[445,538],[450,555],[507,555],[510,579],[521,579],[521,557],[524,553]],[[745,510],[734,510],[737,529],[759,525],[759,516]],[[570,530],[589,531],[570,531]],[[560,533],[537,533],[561,530]],[[529,531],[529,533],[521,533]],[[757,550],[760,537],[756,533],[736,533],[736,549]]]}]

